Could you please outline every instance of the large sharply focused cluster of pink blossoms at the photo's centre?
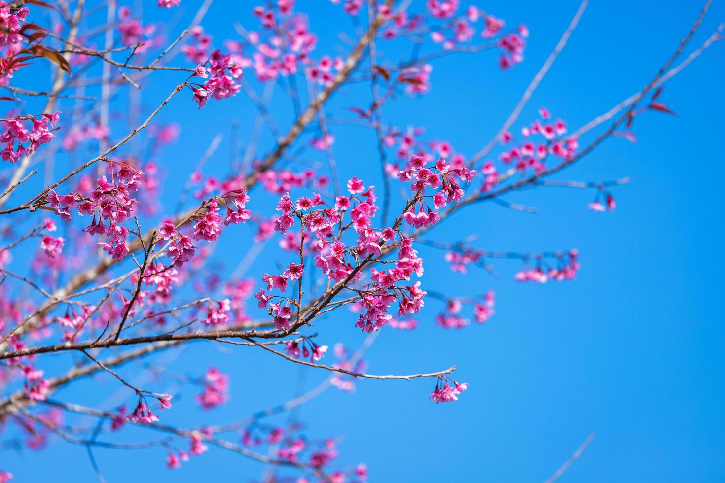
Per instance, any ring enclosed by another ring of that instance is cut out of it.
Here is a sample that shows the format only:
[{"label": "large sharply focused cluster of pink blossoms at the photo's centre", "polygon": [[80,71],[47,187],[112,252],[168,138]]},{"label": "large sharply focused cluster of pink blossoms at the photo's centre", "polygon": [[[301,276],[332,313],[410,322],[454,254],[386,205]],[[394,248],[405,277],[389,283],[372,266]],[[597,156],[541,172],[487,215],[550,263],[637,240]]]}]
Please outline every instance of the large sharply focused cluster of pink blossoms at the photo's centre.
[{"label": "large sharply focused cluster of pink blossoms at the photo's centre", "polygon": [[[360,259],[365,258],[365,261],[376,259],[384,251],[389,253],[395,250],[394,266],[384,270],[376,266],[370,267],[370,282],[361,290],[356,290],[359,297],[352,304],[352,308],[359,312],[359,316],[355,327],[363,332],[378,330],[392,320],[393,315],[389,314],[389,311],[393,303],[398,303],[398,317],[417,314],[423,307],[426,292],[421,289],[420,282],[405,283],[411,282],[413,276],[423,275],[423,260],[413,248],[413,238],[399,232],[397,228],[399,223],[405,219],[415,227],[433,224],[437,220],[437,211],[431,209],[423,211],[423,203],[427,205],[426,198],[431,199],[436,210],[441,209],[463,196],[460,180],[471,181],[475,176],[475,172],[465,165],[452,167],[443,158],[431,167],[426,167],[425,163],[426,159],[423,156],[411,156],[407,167],[398,173],[399,178],[411,183],[415,198],[413,202],[408,203],[407,211],[397,220],[395,227],[373,227],[373,218],[378,211],[374,187],[366,188],[363,180],[358,177],[352,177],[347,182],[350,196],[338,196],[334,206],[331,207],[318,194],[311,198],[302,196],[293,203],[289,193],[285,193],[278,201],[277,209],[281,214],[273,223],[274,230],[284,235],[299,219],[304,236],[307,236],[304,230],[308,229],[310,237],[315,238],[314,243],[310,245],[310,249],[317,253],[315,266],[332,282],[360,280],[360,272],[356,268],[356,265],[360,264]],[[436,193],[425,195],[427,188],[436,190]],[[413,210],[419,203],[421,209],[415,213]],[[350,223],[347,227],[352,227],[357,233],[355,245],[351,247],[348,247],[341,238],[341,233],[347,230],[342,224],[348,214]],[[423,217],[426,218],[426,222],[419,222]],[[337,225],[342,227],[338,234],[335,230]],[[296,246],[299,250],[305,250],[301,244]],[[349,259],[351,255],[355,256],[355,265]],[[270,295],[268,291],[277,289],[285,293],[289,280],[299,280],[303,269],[302,265],[292,263],[283,274],[262,276],[262,282],[265,282],[267,287],[262,288],[256,295],[258,306],[268,309],[277,329],[290,328],[289,320],[293,315],[291,306],[297,306],[297,301],[280,296],[281,301],[270,303],[278,295]],[[289,350],[296,353],[299,348],[291,343]]]}]

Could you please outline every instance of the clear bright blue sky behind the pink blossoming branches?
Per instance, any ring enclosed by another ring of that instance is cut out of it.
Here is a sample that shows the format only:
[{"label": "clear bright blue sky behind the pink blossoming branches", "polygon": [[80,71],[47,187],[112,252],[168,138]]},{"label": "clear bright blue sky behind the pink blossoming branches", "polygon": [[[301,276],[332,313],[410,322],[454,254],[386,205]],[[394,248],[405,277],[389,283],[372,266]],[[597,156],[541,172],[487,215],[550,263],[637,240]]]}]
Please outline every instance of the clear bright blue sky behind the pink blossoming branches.
[{"label": "clear bright blue sky behind the pink blossoming branches", "polygon": [[[155,2],[143,3],[147,18],[165,21],[173,38],[201,2],[183,0],[175,12],[159,11],[152,7]],[[593,1],[521,122],[534,119],[539,106],[546,106],[570,127],[607,111],[655,75],[687,34],[701,3]],[[216,0],[203,25],[217,44],[234,38],[233,22],[257,25],[249,16],[254,4]],[[468,155],[484,146],[508,117],[579,2],[492,0],[480,6],[508,25],[529,25],[525,62],[501,71],[492,52],[439,59],[426,96],[399,98],[386,108],[388,122],[425,126],[428,139],[450,140],[457,151]],[[339,46],[334,43],[337,30],[353,31],[340,7],[328,1],[300,0],[297,9],[311,13],[312,30],[320,35],[320,55]],[[687,52],[724,20],[724,4],[716,1]],[[647,114],[634,125],[637,144],[608,140],[553,178],[631,177],[629,185],[613,192],[618,202],[615,211],[587,210],[594,195],[589,191],[540,188],[506,197],[539,207],[539,214],[489,203],[463,211],[462,217],[428,235],[443,241],[476,233],[480,248],[578,248],[581,253],[576,280],[546,285],[515,282],[519,268],[515,261],[497,262],[498,278],[492,278],[475,269],[454,274],[442,261],[442,252],[423,253],[425,288],[460,295],[493,288],[495,316],[482,326],[446,331],[435,327],[439,304],[430,301],[421,327],[412,332],[384,329],[365,358],[370,372],[378,374],[436,371],[456,364],[456,379],[470,384],[457,403],[436,406],[428,399],[434,388],[431,379],[364,380],[357,383],[354,395],[331,389],[302,406],[295,416],[305,422],[307,434],[341,437],[339,466],[365,461],[373,482],[543,481],[592,432],[595,440],[561,481],[723,481],[724,49],[714,45],[668,84],[661,100],[677,117]],[[175,64],[181,61],[179,56]],[[248,74],[251,80],[252,70]],[[144,88],[143,112],[182,80],[171,74],[154,79]],[[367,94],[366,89],[360,92]],[[358,93],[349,89],[336,96],[336,109],[330,112],[363,104]],[[283,101],[279,101],[281,112]],[[124,102],[119,98],[117,109]],[[239,121],[244,138],[254,114],[243,94],[212,101],[202,111],[186,93],[174,98],[159,114],[159,122],[176,121],[182,129],[180,141],[159,158],[169,172],[163,199],[175,199],[183,182],[180,173],[191,169],[219,132],[225,139],[207,172],[224,172],[231,120]],[[343,179],[363,175],[379,185],[373,131],[347,127],[334,128],[334,134]],[[261,152],[269,147],[262,146]],[[173,209],[173,202],[167,206]],[[251,227],[233,230],[238,235],[228,236],[218,248],[230,269],[238,263],[240,251],[249,247],[252,233]],[[274,266],[273,260],[260,260],[248,274],[257,277]],[[354,322],[352,314],[341,311],[318,323],[316,328],[324,335],[319,342],[344,341],[357,347],[365,336]],[[197,376],[211,362],[231,374],[231,402],[223,408],[199,413],[191,401],[194,392],[178,395],[178,405],[162,416],[181,425],[241,419],[328,376],[252,348],[208,343],[194,343],[181,353],[150,361]],[[133,376],[139,369],[128,366],[123,371]],[[101,378],[100,383],[115,392],[115,382]],[[86,382],[57,397],[88,405],[106,400],[91,392],[94,384]],[[110,407],[117,403],[120,400],[113,400]],[[288,417],[277,421],[283,423]],[[127,437],[137,441],[149,434],[154,437],[152,432],[131,430]],[[173,474],[165,469],[167,452],[162,448],[99,449],[95,454],[109,482],[128,481],[130,476],[151,481],[247,482],[260,479],[264,471],[258,463],[218,448],[184,463]],[[58,441],[43,453],[0,453],[0,467],[12,471],[18,482],[95,477],[85,448]]]}]

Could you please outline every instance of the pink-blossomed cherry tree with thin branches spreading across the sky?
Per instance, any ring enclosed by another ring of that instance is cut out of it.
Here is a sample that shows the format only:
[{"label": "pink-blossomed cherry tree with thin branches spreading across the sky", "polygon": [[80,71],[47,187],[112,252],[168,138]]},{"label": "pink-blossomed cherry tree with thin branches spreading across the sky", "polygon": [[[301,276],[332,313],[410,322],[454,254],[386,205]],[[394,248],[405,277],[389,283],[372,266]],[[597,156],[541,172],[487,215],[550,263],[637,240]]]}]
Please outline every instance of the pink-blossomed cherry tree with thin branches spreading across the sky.
[{"label": "pink-blossomed cherry tree with thin branches spreading across the sky", "polygon": [[[173,15],[181,3],[158,0],[154,8]],[[610,111],[574,130],[544,108],[537,119],[520,120],[587,9],[584,0],[510,117],[467,157],[426,138],[415,119],[384,117],[384,109],[402,96],[424,98],[442,56],[515,68],[529,37],[525,25],[458,0],[333,0],[325,8],[351,17],[354,28],[341,45],[326,46],[312,30],[314,14],[297,12],[294,0],[275,0],[260,2],[243,20],[247,27],[235,23],[237,35],[223,40],[202,28],[211,3],[183,0],[198,11],[188,28],[170,32],[116,0],[0,1],[0,88],[7,94],[0,98],[7,105],[0,130],[0,434],[38,450],[49,437],[83,445],[101,479],[96,447],[161,450],[171,469],[215,447],[268,463],[270,481],[365,481],[364,463],[336,466],[336,435],[315,440],[297,423],[270,418],[328,387],[352,392],[363,379],[426,379],[426,389],[411,385],[413,397],[457,400],[467,384],[455,366],[431,371],[421,358],[419,374],[381,375],[369,374],[363,359],[380,331],[432,320],[460,329],[493,315],[492,290],[426,290],[422,254],[444,257],[454,272],[491,271],[496,259],[513,259],[520,268],[511,276],[539,283],[572,280],[579,260],[575,250],[487,251],[436,227],[461,213],[475,216],[489,201],[529,210],[502,196],[535,187],[589,190],[589,209],[613,210],[611,190],[626,179],[555,175],[609,138],[634,140],[631,126],[641,118],[673,114],[663,84],[721,38],[718,30],[689,46],[708,1],[650,82]],[[36,87],[48,71],[50,83]],[[163,100],[142,103],[146,87],[164,82]],[[241,133],[244,149],[233,145],[222,160],[218,136],[194,169],[173,172],[179,161],[165,149],[190,141],[180,130],[194,130],[207,104],[231,106],[235,96],[257,108],[243,114],[255,118],[252,132]],[[171,102],[183,105],[188,125],[158,121]],[[336,159],[334,132],[360,127],[371,130],[378,158]],[[341,179],[339,168],[351,166],[357,175]],[[184,181],[165,182],[167,174]],[[178,201],[159,203],[162,190]],[[241,224],[247,227],[232,226]],[[225,239],[233,240],[235,256],[215,252]],[[255,260],[267,272],[247,274]],[[239,265],[221,277],[224,263]],[[359,347],[326,336],[332,312],[362,333]],[[330,375],[298,398],[236,421],[172,426],[167,411],[228,402],[220,361],[180,377],[154,359],[195,340]],[[152,381],[134,382],[139,365],[154,372]],[[125,403],[62,397],[99,376],[112,384],[98,391],[120,391]],[[194,400],[177,403],[176,392],[190,389]],[[135,426],[144,431],[134,436],[144,439],[128,442],[123,433]],[[0,482],[7,482],[12,464],[3,458],[2,466]]]}]

